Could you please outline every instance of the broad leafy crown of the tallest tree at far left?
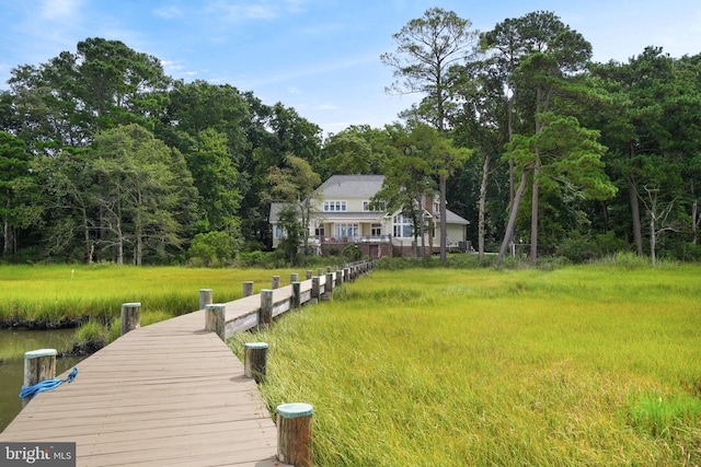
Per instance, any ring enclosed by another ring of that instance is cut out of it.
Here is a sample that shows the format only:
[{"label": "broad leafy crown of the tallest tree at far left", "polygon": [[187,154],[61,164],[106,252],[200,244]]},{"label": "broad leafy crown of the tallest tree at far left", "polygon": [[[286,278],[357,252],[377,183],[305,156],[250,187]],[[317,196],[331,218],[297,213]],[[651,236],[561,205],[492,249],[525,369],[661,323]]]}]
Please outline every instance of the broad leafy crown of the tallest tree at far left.
[{"label": "broad leafy crown of the tallest tree at far left", "polygon": [[156,57],[100,37],[11,74],[20,136],[32,148],[47,141],[84,148],[97,131],[130,122],[153,129],[171,83]]}]

